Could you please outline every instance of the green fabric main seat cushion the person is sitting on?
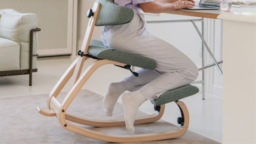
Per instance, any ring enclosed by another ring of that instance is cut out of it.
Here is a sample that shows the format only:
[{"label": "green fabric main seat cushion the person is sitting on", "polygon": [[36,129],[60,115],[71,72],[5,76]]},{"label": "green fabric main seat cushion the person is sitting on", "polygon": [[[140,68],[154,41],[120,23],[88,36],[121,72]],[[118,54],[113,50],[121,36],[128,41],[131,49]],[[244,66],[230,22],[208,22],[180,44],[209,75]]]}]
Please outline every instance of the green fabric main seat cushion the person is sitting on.
[{"label": "green fabric main seat cushion the person is sitting on", "polygon": [[97,40],[91,40],[87,53],[99,59],[109,59],[144,69],[154,70],[156,68],[156,62],[153,59],[105,47],[101,41]]}]

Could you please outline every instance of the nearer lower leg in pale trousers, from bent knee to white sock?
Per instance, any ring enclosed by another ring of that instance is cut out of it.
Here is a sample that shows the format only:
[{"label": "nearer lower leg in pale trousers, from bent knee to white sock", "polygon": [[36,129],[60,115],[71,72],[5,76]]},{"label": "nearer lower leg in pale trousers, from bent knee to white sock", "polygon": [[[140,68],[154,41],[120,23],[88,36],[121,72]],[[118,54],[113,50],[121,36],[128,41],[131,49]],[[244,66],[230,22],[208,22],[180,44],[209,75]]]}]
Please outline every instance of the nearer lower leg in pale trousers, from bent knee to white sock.
[{"label": "nearer lower leg in pale trousers, from bent knee to white sock", "polygon": [[137,91],[122,94],[122,102],[125,110],[125,124],[129,133],[134,133],[134,119],[138,108],[147,99],[157,98],[156,95],[180,86],[190,84],[196,80],[198,74],[193,71],[163,73],[152,82],[146,84]]}]

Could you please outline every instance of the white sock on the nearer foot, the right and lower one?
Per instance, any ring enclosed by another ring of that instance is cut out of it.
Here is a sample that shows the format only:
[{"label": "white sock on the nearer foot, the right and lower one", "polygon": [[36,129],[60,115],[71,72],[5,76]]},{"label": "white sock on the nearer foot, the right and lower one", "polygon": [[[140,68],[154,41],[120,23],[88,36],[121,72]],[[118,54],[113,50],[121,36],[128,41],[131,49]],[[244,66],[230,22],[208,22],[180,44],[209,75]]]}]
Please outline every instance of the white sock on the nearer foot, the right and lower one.
[{"label": "white sock on the nearer foot, the right and lower one", "polygon": [[147,99],[139,91],[123,93],[121,96],[124,106],[126,129],[130,134],[134,134],[135,128],[133,124],[135,116],[141,104]]}]

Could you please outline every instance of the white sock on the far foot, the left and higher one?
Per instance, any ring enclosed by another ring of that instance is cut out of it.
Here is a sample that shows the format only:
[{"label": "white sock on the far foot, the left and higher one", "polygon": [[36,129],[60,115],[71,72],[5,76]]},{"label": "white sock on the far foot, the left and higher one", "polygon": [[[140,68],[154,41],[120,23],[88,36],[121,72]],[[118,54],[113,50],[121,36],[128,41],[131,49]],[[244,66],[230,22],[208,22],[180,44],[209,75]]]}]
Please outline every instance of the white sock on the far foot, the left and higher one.
[{"label": "white sock on the far foot, the left and higher one", "polygon": [[103,108],[106,116],[112,116],[116,101],[126,89],[121,83],[110,83],[103,99]]}]

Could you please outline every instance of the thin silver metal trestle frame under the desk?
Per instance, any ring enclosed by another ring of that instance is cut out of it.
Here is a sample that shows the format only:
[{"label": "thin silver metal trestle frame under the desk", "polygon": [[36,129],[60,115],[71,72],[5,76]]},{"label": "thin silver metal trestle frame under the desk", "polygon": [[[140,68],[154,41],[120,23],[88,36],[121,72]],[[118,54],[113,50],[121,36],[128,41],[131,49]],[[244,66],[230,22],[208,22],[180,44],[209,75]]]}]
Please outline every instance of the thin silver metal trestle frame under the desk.
[{"label": "thin silver metal trestle frame under the desk", "polygon": [[[192,22],[192,24],[194,25],[199,37],[202,40],[202,67],[199,68],[198,70],[202,70],[202,80],[201,81],[195,81],[191,84],[198,84],[198,83],[202,83],[202,99],[205,99],[205,71],[204,69],[212,67],[212,66],[216,66],[218,71],[220,72],[220,75],[223,77],[223,72],[219,66],[220,63],[223,63],[222,61],[216,61],[214,55],[212,54],[210,48],[208,47],[207,43],[204,40],[204,18],[201,19],[187,19],[187,20],[163,20],[163,21],[147,21],[148,24],[152,24],[152,23],[173,23],[173,22]],[[196,26],[195,22],[202,22],[202,33],[200,33],[198,27]],[[204,55],[204,46],[206,48],[206,50],[208,51],[208,53],[210,54],[212,60],[214,61],[214,63],[209,64],[207,66],[205,66],[205,55]]]}]

